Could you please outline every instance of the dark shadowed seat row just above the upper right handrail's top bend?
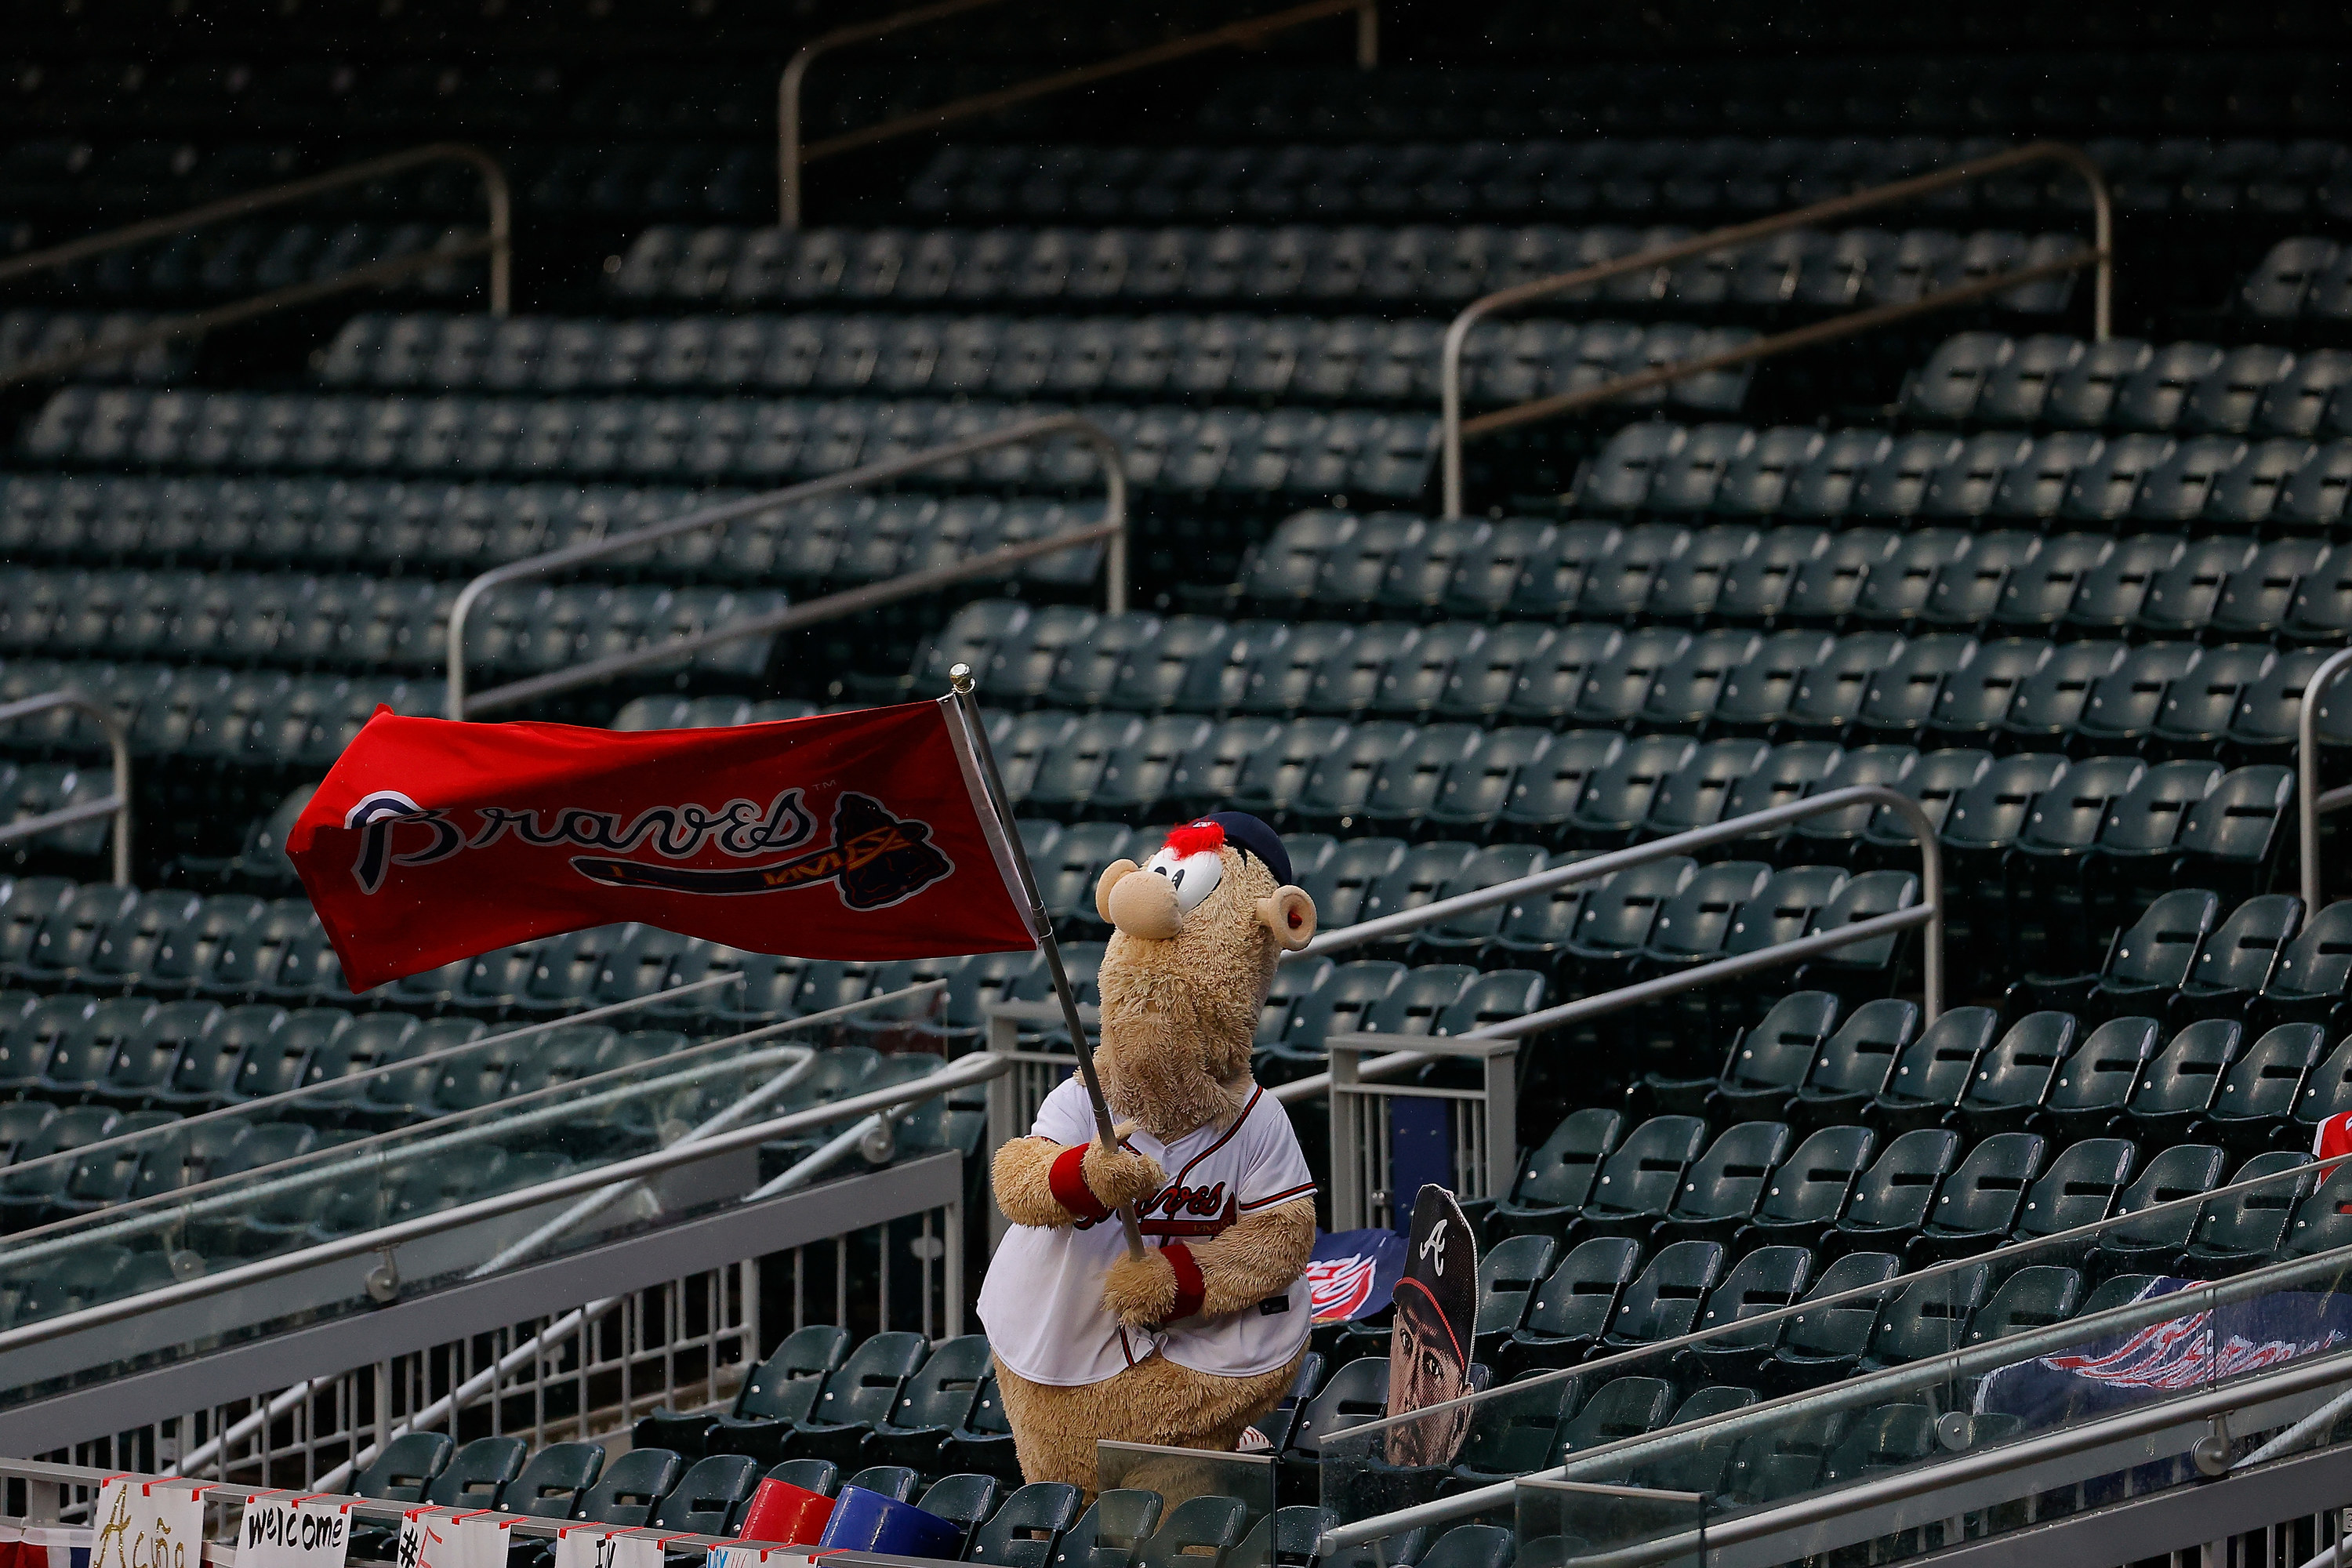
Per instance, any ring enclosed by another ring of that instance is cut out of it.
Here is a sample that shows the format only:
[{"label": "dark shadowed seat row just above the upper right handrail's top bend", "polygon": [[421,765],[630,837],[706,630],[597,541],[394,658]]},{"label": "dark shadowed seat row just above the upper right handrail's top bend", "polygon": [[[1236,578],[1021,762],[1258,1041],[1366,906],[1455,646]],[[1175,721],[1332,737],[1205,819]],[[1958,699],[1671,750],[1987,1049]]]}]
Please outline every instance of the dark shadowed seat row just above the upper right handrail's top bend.
[{"label": "dark shadowed seat row just above the upper right handrail's top bend", "polygon": [[[1526,35],[1496,35],[1515,59]],[[2314,59],[2267,52],[1879,54],[1606,66],[1256,68],[1218,78],[1200,129],[1249,141],[1421,141],[1573,134],[2340,132]]]}]

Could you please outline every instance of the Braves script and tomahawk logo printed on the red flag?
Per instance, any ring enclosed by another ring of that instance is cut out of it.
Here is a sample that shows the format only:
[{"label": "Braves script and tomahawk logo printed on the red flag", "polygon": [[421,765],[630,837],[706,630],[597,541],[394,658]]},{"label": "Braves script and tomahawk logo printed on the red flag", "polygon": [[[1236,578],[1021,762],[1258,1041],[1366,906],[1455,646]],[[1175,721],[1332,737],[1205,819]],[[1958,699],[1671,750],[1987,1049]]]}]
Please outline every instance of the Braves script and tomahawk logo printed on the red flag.
[{"label": "Braves script and tomahawk logo printed on the red flag", "polygon": [[[647,846],[666,860],[684,860],[703,849],[717,849],[731,858],[753,858],[762,851],[797,849],[816,837],[816,820],[802,806],[800,790],[786,790],[767,811],[753,802],[729,802],[720,811],[701,806],[656,806],[621,823],[604,811],[510,811],[506,806],[477,806],[473,830],[452,820],[456,813],[442,806],[419,806],[400,790],[372,790],[343,813],[343,825],[360,832],[360,853],[350,875],[362,893],[374,893],[395,865],[430,865],[468,849],[487,849],[501,837],[517,837],[532,846],[576,846],[628,851]],[[400,849],[402,827],[426,827],[433,839]],[[906,903],[941,877],[955,872],[955,863],[931,844],[931,825],[917,818],[891,816],[870,795],[842,792],[833,806],[833,842],[823,849],[762,865],[689,867],[663,865],[659,860],[621,860],[609,856],[572,856],[572,870],[607,886],[656,889],[663,893],[743,896],[786,893],[826,882],[840,889],[840,898],[851,910],[887,910]]]}]

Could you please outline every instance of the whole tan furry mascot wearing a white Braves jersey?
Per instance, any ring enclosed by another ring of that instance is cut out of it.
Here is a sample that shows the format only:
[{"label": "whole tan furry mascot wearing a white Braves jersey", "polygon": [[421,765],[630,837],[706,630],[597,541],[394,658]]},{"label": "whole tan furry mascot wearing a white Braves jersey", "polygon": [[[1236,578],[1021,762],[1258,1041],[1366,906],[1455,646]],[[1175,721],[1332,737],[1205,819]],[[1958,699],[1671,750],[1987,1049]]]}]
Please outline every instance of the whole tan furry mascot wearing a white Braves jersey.
[{"label": "whole tan furry mascot wearing a white Braves jersey", "polygon": [[[1096,1439],[1232,1450],[1298,1375],[1315,1178],[1289,1112],[1249,1077],[1284,950],[1315,940],[1282,839],[1225,811],[1115,860],[1094,1053],[1120,1147],[1073,1074],[995,1159],[1014,1222],[978,1316],[1021,1474],[1096,1490]],[[1112,1213],[1136,1206],[1131,1258]]]}]

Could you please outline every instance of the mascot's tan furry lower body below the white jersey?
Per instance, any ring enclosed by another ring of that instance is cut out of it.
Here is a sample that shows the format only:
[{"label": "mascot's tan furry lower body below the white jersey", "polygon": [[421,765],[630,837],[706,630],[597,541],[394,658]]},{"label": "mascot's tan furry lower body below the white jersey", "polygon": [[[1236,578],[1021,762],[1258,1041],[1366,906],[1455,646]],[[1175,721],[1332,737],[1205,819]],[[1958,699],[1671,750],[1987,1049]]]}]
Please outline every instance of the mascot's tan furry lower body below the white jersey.
[{"label": "mascot's tan furry lower body below the white jersey", "polygon": [[[1298,1352],[1305,1356],[1305,1349]],[[1167,1356],[1103,1382],[1056,1387],[997,1366],[997,1392],[1025,1481],[1068,1481],[1094,1500],[1094,1443],[1162,1443],[1232,1453],[1242,1429],[1282,1403],[1298,1361],[1256,1378],[1211,1378]]]}]

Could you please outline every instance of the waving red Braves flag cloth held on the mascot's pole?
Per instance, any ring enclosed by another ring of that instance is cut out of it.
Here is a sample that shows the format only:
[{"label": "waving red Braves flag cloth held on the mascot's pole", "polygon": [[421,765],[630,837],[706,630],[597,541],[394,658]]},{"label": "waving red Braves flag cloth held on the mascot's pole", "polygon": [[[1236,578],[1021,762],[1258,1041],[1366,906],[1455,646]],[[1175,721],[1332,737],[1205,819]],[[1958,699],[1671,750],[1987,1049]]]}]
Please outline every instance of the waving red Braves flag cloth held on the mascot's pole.
[{"label": "waving red Braves flag cloth held on the mascot's pole", "polygon": [[1033,947],[978,778],[946,701],[635,733],[376,710],[287,856],[353,990],[616,922],[807,959]]}]

